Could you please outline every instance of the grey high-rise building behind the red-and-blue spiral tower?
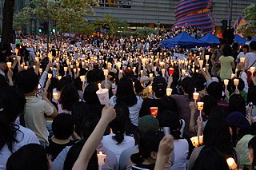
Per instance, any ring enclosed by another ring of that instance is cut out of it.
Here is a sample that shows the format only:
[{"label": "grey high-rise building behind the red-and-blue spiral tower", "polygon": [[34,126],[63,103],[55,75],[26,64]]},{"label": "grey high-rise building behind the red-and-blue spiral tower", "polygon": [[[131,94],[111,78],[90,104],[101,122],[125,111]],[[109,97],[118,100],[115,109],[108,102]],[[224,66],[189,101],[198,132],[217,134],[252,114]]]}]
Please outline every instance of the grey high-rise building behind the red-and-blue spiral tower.
[{"label": "grey high-rise building behind the red-and-blue spiral tower", "polygon": [[[98,0],[99,5],[94,7],[94,16],[88,20],[102,19],[104,14],[114,18],[121,18],[131,26],[173,26],[178,0]],[[232,4],[231,4],[232,2]],[[210,8],[214,16],[215,26],[222,26],[222,20],[230,20],[232,7],[232,25],[242,14],[246,6],[256,0],[213,0]]]}]

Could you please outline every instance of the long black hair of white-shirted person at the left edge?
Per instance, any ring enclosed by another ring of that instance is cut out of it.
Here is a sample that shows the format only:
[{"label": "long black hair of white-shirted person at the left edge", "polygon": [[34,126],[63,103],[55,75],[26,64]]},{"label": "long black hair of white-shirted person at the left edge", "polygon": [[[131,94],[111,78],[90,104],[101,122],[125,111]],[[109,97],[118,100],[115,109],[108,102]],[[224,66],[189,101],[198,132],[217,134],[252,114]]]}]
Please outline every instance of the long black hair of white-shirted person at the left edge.
[{"label": "long black hair of white-shirted person at the left edge", "polygon": [[7,144],[10,152],[13,152],[16,133],[19,130],[14,121],[24,113],[26,98],[17,88],[6,87],[0,89],[0,151]]}]

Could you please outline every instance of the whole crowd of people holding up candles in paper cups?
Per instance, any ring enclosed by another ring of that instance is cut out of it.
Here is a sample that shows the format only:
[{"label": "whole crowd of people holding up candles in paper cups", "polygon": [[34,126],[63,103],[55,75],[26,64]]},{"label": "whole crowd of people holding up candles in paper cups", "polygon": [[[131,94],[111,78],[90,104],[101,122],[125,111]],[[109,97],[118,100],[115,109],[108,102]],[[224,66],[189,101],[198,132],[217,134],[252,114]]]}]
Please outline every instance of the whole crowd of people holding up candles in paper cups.
[{"label": "whole crowd of people holding up candles in paper cups", "polygon": [[19,42],[0,49],[0,169],[254,169],[256,42]]}]

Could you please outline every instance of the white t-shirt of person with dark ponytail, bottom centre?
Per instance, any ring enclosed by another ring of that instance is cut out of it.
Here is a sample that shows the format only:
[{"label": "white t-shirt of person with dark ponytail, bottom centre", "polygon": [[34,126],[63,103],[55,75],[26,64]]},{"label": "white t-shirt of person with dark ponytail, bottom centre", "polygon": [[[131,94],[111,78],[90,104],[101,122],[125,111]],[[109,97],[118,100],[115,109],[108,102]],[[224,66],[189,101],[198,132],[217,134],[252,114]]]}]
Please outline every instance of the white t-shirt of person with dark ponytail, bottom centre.
[{"label": "white t-shirt of person with dark ponytail, bottom centre", "polygon": [[125,150],[126,148],[130,148],[134,146],[135,140],[133,137],[125,135],[124,140],[122,140],[122,143],[117,144],[118,142],[112,138],[113,136],[114,136],[114,133],[111,133],[107,136],[103,136],[102,144],[106,148],[110,149],[110,151],[114,152],[115,156],[119,161],[122,151]]}]

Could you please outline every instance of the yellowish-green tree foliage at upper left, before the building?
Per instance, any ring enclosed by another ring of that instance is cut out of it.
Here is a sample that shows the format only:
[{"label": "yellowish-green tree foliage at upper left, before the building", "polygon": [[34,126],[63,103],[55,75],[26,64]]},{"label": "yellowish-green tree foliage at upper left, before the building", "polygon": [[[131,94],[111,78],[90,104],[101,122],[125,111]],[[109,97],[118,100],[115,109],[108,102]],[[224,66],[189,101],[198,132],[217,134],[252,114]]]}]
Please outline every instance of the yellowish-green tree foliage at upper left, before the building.
[{"label": "yellowish-green tree foliage at upper left, before the building", "polygon": [[30,7],[22,10],[27,16],[56,21],[59,32],[75,33],[86,24],[86,15],[92,14],[91,6],[98,6],[95,0],[32,0]]}]

